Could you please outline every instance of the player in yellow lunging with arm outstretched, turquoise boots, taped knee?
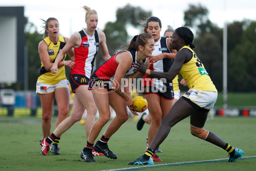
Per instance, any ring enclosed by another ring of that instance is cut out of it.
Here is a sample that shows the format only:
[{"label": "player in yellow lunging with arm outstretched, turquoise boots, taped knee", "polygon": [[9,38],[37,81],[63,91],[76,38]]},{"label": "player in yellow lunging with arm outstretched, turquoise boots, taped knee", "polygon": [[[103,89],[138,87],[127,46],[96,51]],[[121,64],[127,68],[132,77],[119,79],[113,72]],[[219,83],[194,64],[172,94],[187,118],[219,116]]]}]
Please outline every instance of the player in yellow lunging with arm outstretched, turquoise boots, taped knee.
[{"label": "player in yellow lunging with arm outstretched, turquoise boots, taped knee", "polygon": [[234,162],[243,156],[244,152],[239,148],[231,147],[214,133],[205,130],[204,124],[209,110],[213,108],[218,93],[212,83],[204,65],[192,50],[194,35],[187,27],[179,27],[173,33],[170,47],[177,50],[175,61],[168,72],[154,72],[147,70],[142,61],[134,63],[136,70],[145,73],[151,78],[166,78],[173,80],[180,73],[188,83],[187,91],[171,108],[157,130],[151,145],[142,157],[128,162],[128,165],[153,165],[151,156],[156,148],[166,139],[171,128],[181,120],[190,116],[190,131],[193,136],[210,142],[228,152],[228,162]]}]

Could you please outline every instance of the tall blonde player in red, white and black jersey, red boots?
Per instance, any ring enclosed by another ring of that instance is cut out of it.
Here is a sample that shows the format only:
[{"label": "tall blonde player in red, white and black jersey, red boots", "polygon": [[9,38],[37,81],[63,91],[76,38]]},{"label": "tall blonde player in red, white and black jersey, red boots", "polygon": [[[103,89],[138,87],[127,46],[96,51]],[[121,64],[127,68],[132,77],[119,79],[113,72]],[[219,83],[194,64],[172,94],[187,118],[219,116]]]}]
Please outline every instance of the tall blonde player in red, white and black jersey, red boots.
[{"label": "tall blonde player in red, white and black jersey, red boots", "polygon": [[[51,137],[49,136],[43,139],[44,146],[41,151],[44,155],[48,155],[47,149],[54,139],[58,139],[62,133],[66,132],[72,125],[81,120],[85,110],[87,112],[85,119],[87,139],[91,127],[95,122],[97,107],[93,100],[93,94],[88,90],[89,79],[93,72],[94,61],[99,49],[101,49],[102,57],[105,60],[111,56],[108,54],[105,33],[97,30],[99,21],[98,13],[88,6],[83,6],[82,8],[86,11],[84,20],[86,28],[74,33],[70,37],[68,43],[64,46],[61,52],[58,53],[51,68],[52,73],[58,74],[58,64],[61,63],[61,59],[65,53],[74,48],[74,62],[76,64],[70,71],[70,87],[74,93],[72,111],[70,116],[64,119],[52,132]],[[100,154],[94,151],[93,148],[93,155]]]}]

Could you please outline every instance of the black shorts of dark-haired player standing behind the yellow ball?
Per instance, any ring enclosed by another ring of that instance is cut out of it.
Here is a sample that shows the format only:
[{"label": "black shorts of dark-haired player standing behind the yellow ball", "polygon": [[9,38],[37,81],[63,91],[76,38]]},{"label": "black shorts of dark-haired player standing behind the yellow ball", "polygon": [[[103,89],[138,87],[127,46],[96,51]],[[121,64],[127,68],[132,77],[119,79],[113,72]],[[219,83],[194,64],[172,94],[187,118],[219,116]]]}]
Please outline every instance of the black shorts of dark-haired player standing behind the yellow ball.
[{"label": "black shorts of dark-haired player standing behind the yellow ball", "polygon": [[161,91],[154,86],[144,86],[142,95],[144,96],[147,94],[156,94],[157,96],[163,97],[164,99],[167,99],[167,100],[174,99],[174,93],[173,93],[172,86],[166,86],[166,90],[164,90],[164,91]]}]

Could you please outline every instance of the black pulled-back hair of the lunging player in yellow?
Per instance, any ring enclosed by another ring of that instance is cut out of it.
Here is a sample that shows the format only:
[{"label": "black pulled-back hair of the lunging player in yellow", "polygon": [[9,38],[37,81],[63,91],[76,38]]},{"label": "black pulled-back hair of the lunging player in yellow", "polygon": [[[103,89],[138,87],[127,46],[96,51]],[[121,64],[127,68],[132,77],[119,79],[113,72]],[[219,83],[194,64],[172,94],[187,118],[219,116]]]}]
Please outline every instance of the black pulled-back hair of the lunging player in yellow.
[{"label": "black pulled-back hair of the lunging player in yellow", "polygon": [[191,49],[195,48],[195,45],[193,44],[194,34],[189,28],[182,26],[175,29],[175,32],[180,38],[183,38],[186,45],[188,45]]}]

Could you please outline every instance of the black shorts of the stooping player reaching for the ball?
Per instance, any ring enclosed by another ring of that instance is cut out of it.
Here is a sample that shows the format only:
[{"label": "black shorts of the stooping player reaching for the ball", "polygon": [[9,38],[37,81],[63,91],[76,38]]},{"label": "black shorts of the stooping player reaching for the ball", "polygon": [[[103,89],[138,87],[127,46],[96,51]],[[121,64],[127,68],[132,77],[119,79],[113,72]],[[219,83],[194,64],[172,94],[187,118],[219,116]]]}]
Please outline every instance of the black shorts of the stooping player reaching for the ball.
[{"label": "black shorts of the stooping player reaching for the ball", "polygon": [[113,91],[112,81],[99,78],[94,72],[90,76],[88,90],[94,88],[105,88],[108,92]]}]

